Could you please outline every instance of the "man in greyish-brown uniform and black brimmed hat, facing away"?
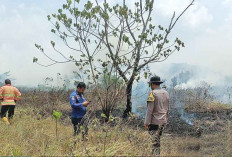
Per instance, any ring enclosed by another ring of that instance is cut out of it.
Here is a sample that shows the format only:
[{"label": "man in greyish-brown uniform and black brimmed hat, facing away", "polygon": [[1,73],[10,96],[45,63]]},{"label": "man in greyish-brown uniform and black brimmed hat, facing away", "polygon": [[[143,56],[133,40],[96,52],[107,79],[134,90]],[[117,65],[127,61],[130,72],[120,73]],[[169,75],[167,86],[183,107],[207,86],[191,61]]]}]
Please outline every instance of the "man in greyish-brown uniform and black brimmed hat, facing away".
[{"label": "man in greyish-brown uniform and black brimmed hat, facing away", "polygon": [[164,126],[168,122],[169,94],[160,87],[160,77],[154,76],[149,85],[152,91],[147,100],[147,112],[144,127],[152,136],[152,154],[160,155],[160,137]]}]

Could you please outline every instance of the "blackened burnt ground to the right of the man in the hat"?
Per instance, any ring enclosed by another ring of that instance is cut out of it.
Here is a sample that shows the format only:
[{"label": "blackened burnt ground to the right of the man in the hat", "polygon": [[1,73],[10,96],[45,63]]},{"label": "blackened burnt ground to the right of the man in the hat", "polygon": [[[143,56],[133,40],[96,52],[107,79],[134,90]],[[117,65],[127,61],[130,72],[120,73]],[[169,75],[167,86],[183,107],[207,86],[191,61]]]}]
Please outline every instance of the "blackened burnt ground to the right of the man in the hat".
[{"label": "blackened burnt ground to the right of the man in the hat", "polygon": [[228,122],[232,120],[231,114],[222,113],[194,113],[193,125],[188,124],[181,118],[177,108],[170,112],[169,124],[166,127],[167,133],[178,135],[200,136],[202,133],[211,134],[225,131]]}]

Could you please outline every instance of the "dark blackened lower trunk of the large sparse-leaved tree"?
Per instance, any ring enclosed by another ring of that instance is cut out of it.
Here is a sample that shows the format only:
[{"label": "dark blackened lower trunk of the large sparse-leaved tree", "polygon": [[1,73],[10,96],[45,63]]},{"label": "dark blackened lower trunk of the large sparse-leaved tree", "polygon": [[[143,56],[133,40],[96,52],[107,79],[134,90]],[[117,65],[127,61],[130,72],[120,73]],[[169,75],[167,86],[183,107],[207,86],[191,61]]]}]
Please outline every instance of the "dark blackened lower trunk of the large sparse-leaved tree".
[{"label": "dark blackened lower trunk of the large sparse-leaved tree", "polygon": [[131,96],[132,96],[132,85],[133,85],[134,79],[131,79],[126,87],[126,109],[123,113],[123,118],[127,118],[128,115],[131,113],[132,110],[132,103],[131,103]]}]

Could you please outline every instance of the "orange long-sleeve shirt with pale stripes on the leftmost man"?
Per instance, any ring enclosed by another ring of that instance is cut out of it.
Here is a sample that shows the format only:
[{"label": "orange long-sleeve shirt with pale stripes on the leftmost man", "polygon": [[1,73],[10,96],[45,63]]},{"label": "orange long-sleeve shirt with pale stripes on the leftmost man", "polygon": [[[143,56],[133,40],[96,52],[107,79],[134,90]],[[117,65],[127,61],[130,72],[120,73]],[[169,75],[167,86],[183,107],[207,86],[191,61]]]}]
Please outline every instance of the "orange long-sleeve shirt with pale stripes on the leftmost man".
[{"label": "orange long-sleeve shirt with pale stripes on the leftmost man", "polygon": [[15,100],[19,100],[21,93],[16,87],[7,84],[0,88],[0,99],[2,105],[16,105]]}]

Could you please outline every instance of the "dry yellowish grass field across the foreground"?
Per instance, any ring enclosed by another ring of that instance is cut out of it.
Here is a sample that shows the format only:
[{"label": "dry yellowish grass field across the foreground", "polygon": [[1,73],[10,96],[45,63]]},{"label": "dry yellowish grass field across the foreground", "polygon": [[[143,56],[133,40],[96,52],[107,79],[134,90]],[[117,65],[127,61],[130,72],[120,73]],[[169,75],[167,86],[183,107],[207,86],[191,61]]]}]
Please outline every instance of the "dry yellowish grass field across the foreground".
[{"label": "dry yellowish grass field across the foreground", "polygon": [[[118,119],[118,121],[121,121]],[[68,117],[58,122],[58,137],[52,116],[35,114],[32,107],[18,107],[11,125],[0,123],[0,155],[2,156],[148,156],[151,155],[149,134],[125,122],[89,124],[88,140],[73,137]],[[228,121],[224,132],[202,134],[201,137],[164,133],[162,156],[231,156],[232,128]]]}]

